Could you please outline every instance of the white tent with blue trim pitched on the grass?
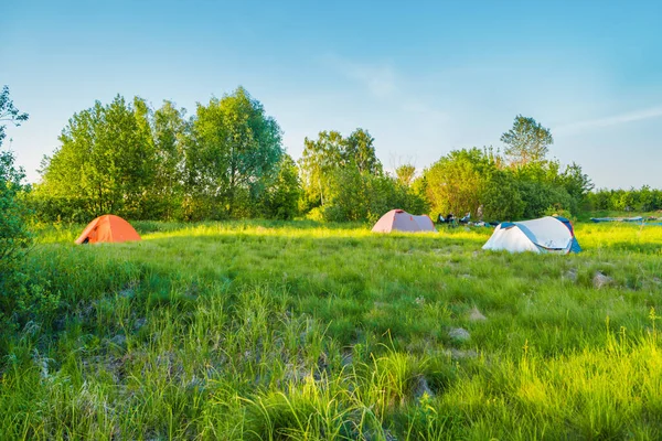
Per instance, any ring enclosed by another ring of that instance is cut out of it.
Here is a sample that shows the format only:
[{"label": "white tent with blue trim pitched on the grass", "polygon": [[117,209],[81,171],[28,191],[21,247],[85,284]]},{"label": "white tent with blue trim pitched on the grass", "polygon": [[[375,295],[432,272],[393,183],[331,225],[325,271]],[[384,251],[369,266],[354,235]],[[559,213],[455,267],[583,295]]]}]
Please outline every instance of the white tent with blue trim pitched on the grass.
[{"label": "white tent with blue trim pitched on the grass", "polygon": [[565,217],[546,216],[523,222],[503,222],[494,229],[483,249],[511,252],[579,252],[573,225]]}]

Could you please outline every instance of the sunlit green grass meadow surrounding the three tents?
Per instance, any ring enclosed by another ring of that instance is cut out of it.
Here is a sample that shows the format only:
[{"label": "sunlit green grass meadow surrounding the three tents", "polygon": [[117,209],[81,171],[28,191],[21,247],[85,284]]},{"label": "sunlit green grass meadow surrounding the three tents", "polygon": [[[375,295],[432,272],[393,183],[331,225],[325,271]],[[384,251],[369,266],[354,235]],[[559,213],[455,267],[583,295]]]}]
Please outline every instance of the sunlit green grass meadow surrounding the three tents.
[{"label": "sunlit green grass meadow surrounding the three tents", "polygon": [[62,308],[2,342],[0,439],[662,438],[662,227],[538,256],[488,228],[136,226],[40,233]]}]

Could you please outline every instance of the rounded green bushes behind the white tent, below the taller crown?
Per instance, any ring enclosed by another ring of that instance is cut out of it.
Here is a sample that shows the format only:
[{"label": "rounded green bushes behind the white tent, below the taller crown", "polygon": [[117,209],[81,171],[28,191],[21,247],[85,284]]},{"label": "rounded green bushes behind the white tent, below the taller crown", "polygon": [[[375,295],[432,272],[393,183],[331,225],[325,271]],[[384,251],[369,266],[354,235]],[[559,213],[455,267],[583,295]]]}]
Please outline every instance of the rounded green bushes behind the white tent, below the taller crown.
[{"label": "rounded green bushes behind the white tent, below the taller crown", "polygon": [[504,168],[491,150],[473,148],[441,158],[420,184],[433,213],[476,215],[482,206],[485,220],[534,218],[549,209],[577,213],[592,184],[577,164],[559,170],[557,161],[546,160]]}]

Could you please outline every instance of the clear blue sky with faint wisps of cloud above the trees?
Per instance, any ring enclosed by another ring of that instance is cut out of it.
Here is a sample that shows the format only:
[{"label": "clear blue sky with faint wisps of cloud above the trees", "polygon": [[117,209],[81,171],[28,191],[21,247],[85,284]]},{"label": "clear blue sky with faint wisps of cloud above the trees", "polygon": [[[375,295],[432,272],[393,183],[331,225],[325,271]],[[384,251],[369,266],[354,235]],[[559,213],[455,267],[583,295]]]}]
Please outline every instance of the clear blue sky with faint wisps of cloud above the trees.
[{"label": "clear blue sky with faint wisps of cloud above the trees", "polygon": [[243,85],[295,158],[305,137],[362,127],[387,169],[424,168],[500,147],[523,114],[597,186],[662,187],[660,23],[660,1],[14,1],[0,84],[31,117],[9,130],[31,181],[97,99],[193,112]]}]

